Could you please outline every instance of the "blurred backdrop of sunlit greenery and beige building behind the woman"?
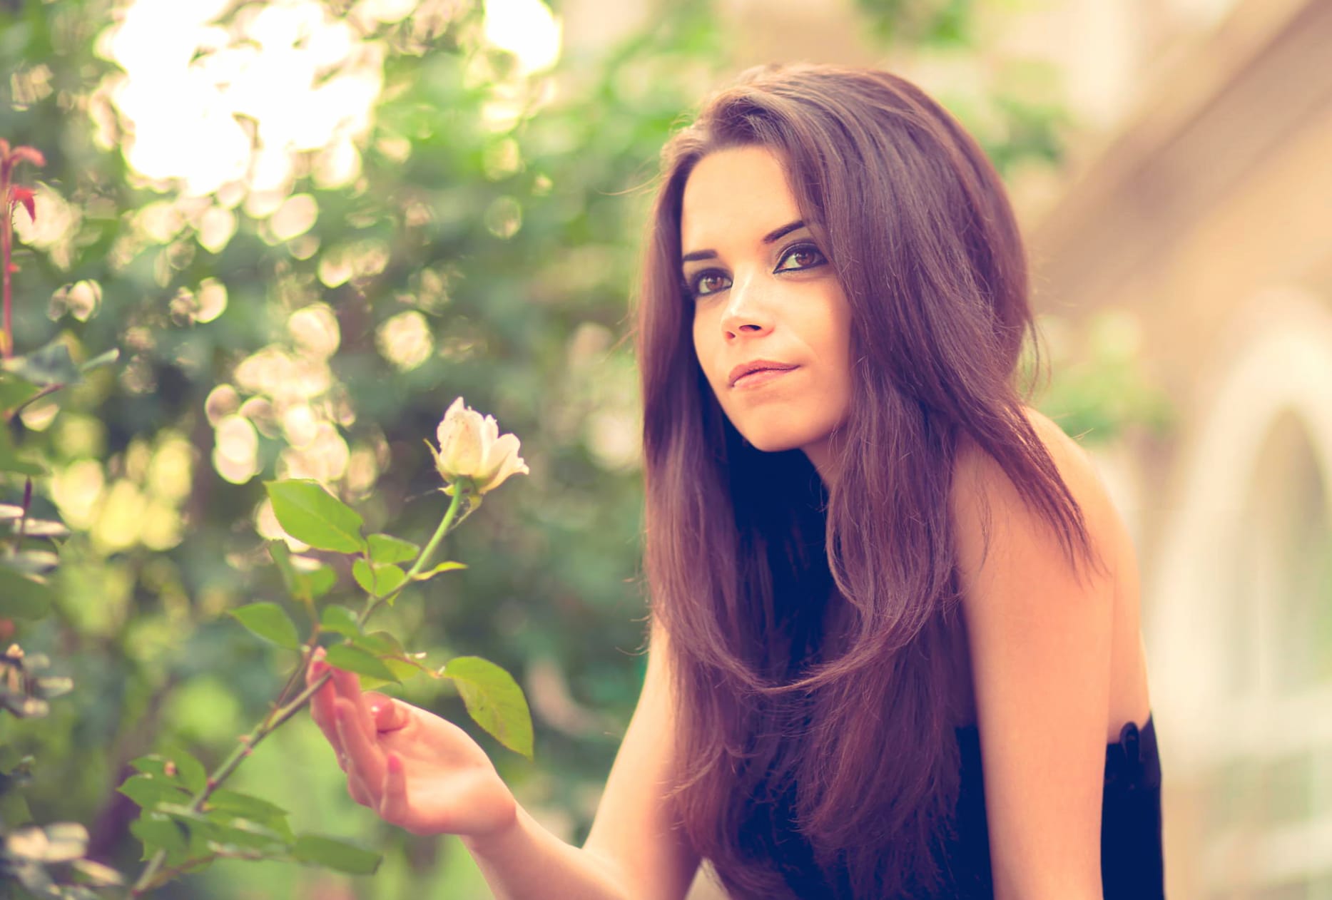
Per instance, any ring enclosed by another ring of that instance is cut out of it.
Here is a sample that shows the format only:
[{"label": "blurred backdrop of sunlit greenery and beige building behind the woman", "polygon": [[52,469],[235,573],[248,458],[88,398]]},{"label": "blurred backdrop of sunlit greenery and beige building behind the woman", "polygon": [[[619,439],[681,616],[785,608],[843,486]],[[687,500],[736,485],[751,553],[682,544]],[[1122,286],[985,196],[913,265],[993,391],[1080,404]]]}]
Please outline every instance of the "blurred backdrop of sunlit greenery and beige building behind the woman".
[{"label": "blurred backdrop of sunlit greenery and beige building behind the woman", "polygon": [[[518,676],[537,763],[478,740],[581,840],[643,667],[626,336],[657,152],[747,65],[839,61],[918,81],[1011,188],[1038,405],[1138,542],[1169,896],[1332,900],[1329,45],[1329,0],[0,4],[0,137],[47,158],[17,173],[17,346],[121,351],[11,423],[73,530],[16,639],[76,687],[0,723],[35,817],[133,872],[128,760],[218,762],[293,664],[225,615],[281,599],[261,482],[424,539],[422,439],[462,395],[531,475],[380,624]],[[470,727],[425,680],[402,695]],[[353,804],[304,716],[237,780],[380,872],[222,861],[160,896],[488,896],[454,839]]]}]

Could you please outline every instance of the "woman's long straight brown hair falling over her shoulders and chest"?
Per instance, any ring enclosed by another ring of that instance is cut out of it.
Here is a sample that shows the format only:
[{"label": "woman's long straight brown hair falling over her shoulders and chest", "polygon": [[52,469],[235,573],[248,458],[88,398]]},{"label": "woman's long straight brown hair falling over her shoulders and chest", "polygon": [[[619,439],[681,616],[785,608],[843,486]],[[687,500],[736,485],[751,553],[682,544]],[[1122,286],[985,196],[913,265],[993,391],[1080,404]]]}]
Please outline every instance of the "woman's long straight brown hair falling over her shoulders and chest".
[{"label": "woman's long straight brown hair falling over her shoulders and chest", "polygon": [[[703,156],[737,145],[783,160],[851,309],[831,490],[799,450],[749,446],[694,354],[681,197]],[[807,869],[838,897],[947,884],[964,724],[948,493],[963,442],[998,461],[1070,559],[1087,550],[1023,415],[1028,333],[999,177],[902,79],[754,69],[666,145],[637,325],[645,572],[681,710],[674,800],[733,896],[793,896]]]}]

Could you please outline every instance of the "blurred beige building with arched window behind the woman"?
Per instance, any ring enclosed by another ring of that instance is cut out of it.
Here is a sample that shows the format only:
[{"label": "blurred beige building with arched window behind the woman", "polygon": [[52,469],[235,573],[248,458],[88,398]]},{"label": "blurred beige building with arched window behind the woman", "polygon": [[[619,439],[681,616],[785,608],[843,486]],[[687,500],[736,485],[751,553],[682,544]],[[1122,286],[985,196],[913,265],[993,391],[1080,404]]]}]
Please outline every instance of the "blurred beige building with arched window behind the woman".
[{"label": "blurred beige building with arched window behind the woman", "polygon": [[[571,48],[653,8],[605,5],[562,4]],[[742,64],[944,72],[882,59],[850,0],[719,7]],[[1332,0],[1023,9],[984,52],[1055,63],[1080,124],[1015,184],[1038,308],[1116,310],[1173,409],[1095,450],[1143,572],[1168,896],[1332,900]]]}]

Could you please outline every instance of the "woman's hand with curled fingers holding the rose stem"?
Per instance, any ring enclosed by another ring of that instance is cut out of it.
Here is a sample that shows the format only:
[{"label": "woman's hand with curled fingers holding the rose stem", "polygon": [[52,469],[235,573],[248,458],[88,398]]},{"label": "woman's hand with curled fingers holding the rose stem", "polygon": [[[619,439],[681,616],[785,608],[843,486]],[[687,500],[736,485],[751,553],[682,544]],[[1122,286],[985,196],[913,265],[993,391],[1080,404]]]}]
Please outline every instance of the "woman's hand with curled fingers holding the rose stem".
[{"label": "woman's hand with curled fingers holding the rose stem", "polygon": [[310,716],[337,752],[352,799],[416,835],[488,837],[515,821],[517,804],[485,751],[452,722],[361,691],[353,672],[316,651],[305,672]]}]

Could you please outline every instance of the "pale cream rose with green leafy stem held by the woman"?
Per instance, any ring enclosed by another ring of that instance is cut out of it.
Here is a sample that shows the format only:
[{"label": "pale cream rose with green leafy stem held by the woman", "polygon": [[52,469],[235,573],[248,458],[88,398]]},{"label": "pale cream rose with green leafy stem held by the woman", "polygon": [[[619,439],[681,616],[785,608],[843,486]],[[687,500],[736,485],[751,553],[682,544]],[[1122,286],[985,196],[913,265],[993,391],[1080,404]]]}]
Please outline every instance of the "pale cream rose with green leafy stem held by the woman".
[{"label": "pale cream rose with green leafy stem held by the woman", "polygon": [[[297,690],[321,646],[330,666],[358,674],[370,687],[420,672],[450,679],[477,724],[509,750],[531,759],[531,715],[522,688],[503,668],[480,656],[461,656],[432,668],[422,662],[424,652],[409,652],[393,634],[366,630],[374,611],[382,604],[392,606],[410,586],[465,568],[458,562],[429,563],[444,537],[481,505],[486,493],[510,475],[527,471],[518,457],[518,439],[511,434],[500,437],[494,418],[482,418],[468,409],[461,397],[449,407],[437,437],[440,449],[432,447],[432,453],[445,479],[441,490],[452,501],[424,547],[392,534],[366,535],[361,515],[316,481],[265,485],[286,534],[313,550],[348,558],[365,602],[360,612],[332,603],[320,608],[318,600],[336,580],[330,564],[292,555],[284,541],[269,545],[292,600],[305,611],[308,638],[301,642],[296,620],[277,603],[249,603],[232,610],[232,615],[258,638],[297,652],[300,659],[268,715],[212,774],[184,751],[135,760],[137,775],[120,787],[143,809],[132,831],[144,844],[148,865],[135,883],[135,896],[222,857],[284,859],[350,875],[368,875],[378,867],[380,855],[373,851],[322,835],[296,835],[280,807],[257,796],[220,789],[245,758],[305,707],[328,680],[325,674]],[[412,564],[404,567],[408,562]]]}]

